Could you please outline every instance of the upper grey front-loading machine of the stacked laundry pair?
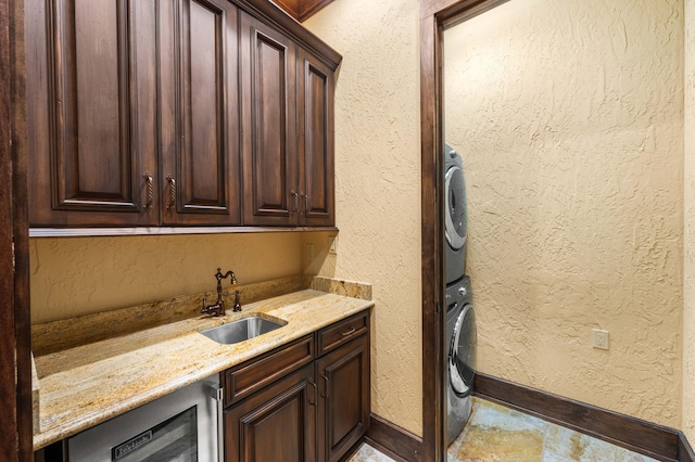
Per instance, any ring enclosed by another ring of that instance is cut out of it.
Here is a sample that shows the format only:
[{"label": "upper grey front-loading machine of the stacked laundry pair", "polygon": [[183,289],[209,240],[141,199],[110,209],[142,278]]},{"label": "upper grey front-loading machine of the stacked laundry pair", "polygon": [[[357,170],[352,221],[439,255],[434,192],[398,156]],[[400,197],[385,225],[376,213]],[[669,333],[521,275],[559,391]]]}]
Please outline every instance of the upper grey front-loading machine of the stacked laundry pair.
[{"label": "upper grey front-loading machine of the stacked laundry pair", "polygon": [[444,264],[448,285],[464,277],[468,229],[464,162],[448,144],[444,147]]}]

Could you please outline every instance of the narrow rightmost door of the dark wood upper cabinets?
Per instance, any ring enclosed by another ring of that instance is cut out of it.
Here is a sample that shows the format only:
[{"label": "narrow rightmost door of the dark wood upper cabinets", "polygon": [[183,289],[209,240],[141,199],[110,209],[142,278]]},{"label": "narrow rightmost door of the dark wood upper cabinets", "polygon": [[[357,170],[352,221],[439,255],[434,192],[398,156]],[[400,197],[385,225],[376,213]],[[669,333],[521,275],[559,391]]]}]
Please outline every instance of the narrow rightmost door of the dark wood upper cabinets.
[{"label": "narrow rightmost door of the dark wood upper cabinets", "polygon": [[333,226],[333,73],[299,53],[300,223]]}]

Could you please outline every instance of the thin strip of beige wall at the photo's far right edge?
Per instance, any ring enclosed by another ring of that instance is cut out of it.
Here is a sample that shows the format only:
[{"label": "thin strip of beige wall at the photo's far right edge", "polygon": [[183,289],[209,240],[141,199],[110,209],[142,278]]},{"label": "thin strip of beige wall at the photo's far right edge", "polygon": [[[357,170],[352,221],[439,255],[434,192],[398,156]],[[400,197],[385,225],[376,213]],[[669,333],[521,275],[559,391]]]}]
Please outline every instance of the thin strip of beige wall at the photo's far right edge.
[{"label": "thin strip of beige wall at the photo's far right edge", "polygon": [[683,424],[695,445],[695,0],[685,0],[685,267],[683,291]]}]

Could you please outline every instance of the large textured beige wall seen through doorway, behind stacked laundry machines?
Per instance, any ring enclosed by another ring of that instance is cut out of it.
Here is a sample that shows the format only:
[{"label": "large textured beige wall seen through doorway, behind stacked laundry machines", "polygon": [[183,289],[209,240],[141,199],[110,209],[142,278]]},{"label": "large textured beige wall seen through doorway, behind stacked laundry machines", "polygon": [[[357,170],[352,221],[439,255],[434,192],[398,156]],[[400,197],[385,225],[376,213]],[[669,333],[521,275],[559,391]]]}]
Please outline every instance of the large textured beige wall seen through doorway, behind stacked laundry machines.
[{"label": "large textured beige wall seen through doorway, behind stacked laundry machines", "polygon": [[[515,0],[447,31],[445,61],[479,369],[673,427],[682,9]],[[592,348],[594,328],[610,332],[610,350]]]}]

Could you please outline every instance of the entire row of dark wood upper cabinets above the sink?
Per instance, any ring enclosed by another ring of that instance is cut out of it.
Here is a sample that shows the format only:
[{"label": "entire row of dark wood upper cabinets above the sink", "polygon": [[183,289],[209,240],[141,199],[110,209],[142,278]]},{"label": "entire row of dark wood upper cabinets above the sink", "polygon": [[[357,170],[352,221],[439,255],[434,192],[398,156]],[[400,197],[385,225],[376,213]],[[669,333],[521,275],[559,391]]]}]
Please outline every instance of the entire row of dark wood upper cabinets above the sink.
[{"label": "entire row of dark wood upper cabinets above the sink", "polygon": [[334,224],[340,55],[277,5],[26,12],[31,227]]}]

